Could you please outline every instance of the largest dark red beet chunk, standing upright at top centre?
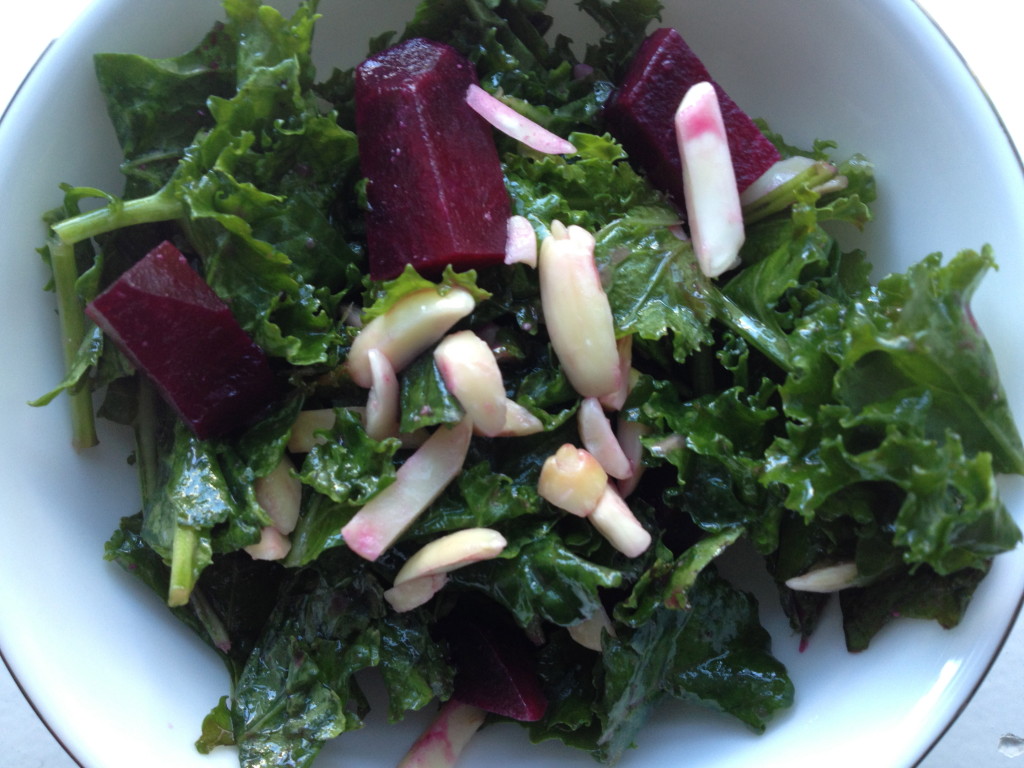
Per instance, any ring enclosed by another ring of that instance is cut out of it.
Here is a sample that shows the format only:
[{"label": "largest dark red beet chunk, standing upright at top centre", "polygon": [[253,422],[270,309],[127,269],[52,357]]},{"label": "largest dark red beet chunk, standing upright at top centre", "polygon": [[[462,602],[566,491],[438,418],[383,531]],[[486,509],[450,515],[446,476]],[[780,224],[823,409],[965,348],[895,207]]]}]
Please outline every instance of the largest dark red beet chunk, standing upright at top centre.
[{"label": "largest dark red beet chunk, standing upright at top centre", "polygon": [[490,126],[466,103],[472,63],[421,38],[355,74],[355,125],[367,177],[370,274],[412,264],[435,276],[505,258],[511,212]]}]

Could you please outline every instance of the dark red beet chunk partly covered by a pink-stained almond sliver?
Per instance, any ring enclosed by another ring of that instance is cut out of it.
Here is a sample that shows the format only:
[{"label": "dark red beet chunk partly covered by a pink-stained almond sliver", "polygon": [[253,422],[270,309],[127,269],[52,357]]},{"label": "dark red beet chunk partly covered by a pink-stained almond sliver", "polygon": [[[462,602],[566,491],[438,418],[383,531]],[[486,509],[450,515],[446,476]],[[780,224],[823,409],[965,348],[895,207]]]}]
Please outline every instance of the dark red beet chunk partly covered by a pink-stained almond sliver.
[{"label": "dark red beet chunk partly covered by a pink-stained almond sliver", "polygon": [[673,118],[689,88],[708,81],[718,93],[739,191],[778,162],[779,154],[716,83],[674,29],[660,29],[641,44],[618,90],[605,108],[608,130],[657,188],[684,210],[682,165]]}]

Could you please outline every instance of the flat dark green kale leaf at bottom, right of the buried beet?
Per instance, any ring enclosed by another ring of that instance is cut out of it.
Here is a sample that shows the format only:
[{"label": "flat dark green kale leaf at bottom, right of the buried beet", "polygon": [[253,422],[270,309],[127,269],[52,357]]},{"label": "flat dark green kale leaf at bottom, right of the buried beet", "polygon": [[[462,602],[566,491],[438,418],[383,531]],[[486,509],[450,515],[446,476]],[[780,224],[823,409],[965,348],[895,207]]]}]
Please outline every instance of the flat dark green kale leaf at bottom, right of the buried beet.
[{"label": "flat dark green kale leaf at bottom, right of the buried beet", "polygon": [[667,604],[660,589],[647,591],[637,622],[616,623],[600,654],[562,635],[552,639],[541,657],[551,705],[530,726],[535,741],[558,738],[614,763],[668,698],[726,713],[755,731],[793,703],[793,683],[771,655],[757,602],[708,566],[711,552],[678,563],[685,599]]}]

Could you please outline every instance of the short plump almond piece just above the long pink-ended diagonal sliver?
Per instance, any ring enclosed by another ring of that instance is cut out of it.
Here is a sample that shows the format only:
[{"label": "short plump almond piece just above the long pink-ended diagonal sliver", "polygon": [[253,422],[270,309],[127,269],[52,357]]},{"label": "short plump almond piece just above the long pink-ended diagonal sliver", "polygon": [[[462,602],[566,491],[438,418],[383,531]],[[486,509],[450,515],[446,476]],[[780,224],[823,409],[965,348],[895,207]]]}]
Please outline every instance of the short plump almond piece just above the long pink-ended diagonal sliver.
[{"label": "short plump almond piece just above the long pink-ended diagonal sliver", "polygon": [[434,349],[434,362],[474,428],[492,437],[499,434],[505,428],[508,396],[487,342],[472,331],[450,334]]}]

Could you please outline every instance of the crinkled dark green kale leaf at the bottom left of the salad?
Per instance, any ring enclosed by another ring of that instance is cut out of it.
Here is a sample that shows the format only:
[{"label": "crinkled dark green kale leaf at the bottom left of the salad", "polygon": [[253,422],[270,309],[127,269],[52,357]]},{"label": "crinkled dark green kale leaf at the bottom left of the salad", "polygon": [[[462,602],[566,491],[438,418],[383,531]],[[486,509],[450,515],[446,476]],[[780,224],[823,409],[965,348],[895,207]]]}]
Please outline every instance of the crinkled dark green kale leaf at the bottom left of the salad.
[{"label": "crinkled dark green kale leaf at the bottom left of the salad", "polygon": [[451,695],[426,616],[390,610],[367,563],[332,554],[295,572],[239,677],[231,723],[245,765],[309,766],[325,741],[361,727],[360,670],[381,669],[392,720]]}]

